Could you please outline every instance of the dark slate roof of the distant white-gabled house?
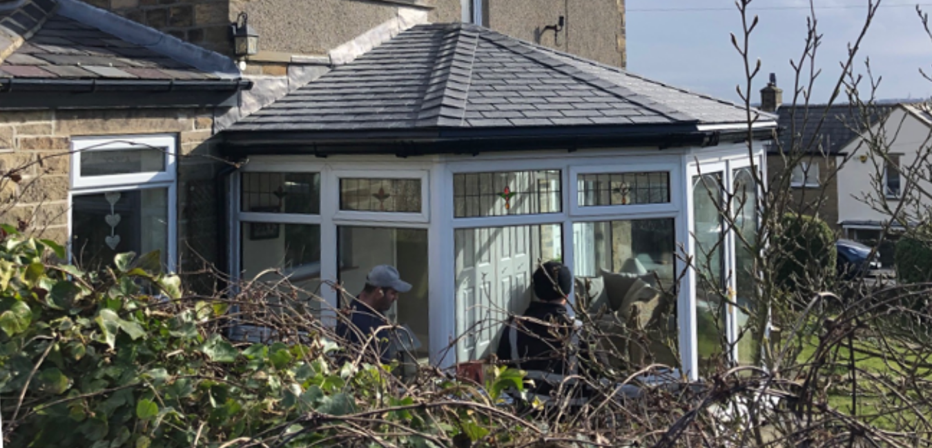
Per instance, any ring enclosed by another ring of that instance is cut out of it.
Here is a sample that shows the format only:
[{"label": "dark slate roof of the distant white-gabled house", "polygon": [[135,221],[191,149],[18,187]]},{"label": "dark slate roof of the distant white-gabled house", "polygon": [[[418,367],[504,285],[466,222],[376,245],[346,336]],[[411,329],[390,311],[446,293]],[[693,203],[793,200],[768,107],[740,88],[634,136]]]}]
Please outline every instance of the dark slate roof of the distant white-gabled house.
[{"label": "dark slate roof of the distant white-gabled house", "polygon": [[[895,107],[897,104],[873,106],[870,108],[870,123],[876,123],[889,115]],[[857,137],[858,132],[866,129],[861,112],[848,103],[829,107],[826,104],[782,106],[777,109],[777,115],[780,116],[777,126],[784,151],[793,149],[814,155],[839,155]],[[790,148],[794,142],[799,145],[798,148]],[[776,152],[778,148],[774,146],[770,151]]]}]

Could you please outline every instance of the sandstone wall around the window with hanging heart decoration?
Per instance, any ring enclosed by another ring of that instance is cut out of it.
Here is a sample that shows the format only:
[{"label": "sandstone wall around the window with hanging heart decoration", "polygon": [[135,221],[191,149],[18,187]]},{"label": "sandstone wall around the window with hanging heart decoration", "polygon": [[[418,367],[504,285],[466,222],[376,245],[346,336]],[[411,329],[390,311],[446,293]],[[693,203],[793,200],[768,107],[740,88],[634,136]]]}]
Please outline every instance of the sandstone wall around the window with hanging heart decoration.
[{"label": "sandstone wall around the window with hanging heart decoration", "polygon": [[[172,133],[178,136],[178,253],[182,272],[218,258],[213,119],[207,110],[135,109],[0,112],[0,223],[65,243],[71,139]],[[23,168],[25,167],[25,168]]]}]

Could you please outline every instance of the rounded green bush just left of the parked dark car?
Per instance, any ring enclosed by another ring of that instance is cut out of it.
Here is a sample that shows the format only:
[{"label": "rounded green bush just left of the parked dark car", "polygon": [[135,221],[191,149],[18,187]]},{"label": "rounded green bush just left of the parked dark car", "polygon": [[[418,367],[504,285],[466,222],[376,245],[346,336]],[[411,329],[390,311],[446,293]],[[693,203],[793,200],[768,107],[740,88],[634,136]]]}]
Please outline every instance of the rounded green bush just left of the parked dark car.
[{"label": "rounded green bush just left of the parked dark car", "polygon": [[774,238],[776,283],[788,292],[825,288],[835,278],[835,234],[819,218],[786,213]]}]

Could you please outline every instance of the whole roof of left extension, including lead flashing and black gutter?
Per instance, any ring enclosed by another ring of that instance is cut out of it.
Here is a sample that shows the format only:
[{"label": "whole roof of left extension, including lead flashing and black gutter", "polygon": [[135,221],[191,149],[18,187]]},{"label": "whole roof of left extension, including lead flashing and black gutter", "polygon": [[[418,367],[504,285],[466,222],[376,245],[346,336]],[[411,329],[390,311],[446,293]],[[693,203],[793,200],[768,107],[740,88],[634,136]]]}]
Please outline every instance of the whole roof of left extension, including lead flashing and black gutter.
[{"label": "whole roof of left extension, including lead flashing and black gutter", "polygon": [[0,5],[0,92],[166,82],[241,81],[228,58],[79,0]]}]

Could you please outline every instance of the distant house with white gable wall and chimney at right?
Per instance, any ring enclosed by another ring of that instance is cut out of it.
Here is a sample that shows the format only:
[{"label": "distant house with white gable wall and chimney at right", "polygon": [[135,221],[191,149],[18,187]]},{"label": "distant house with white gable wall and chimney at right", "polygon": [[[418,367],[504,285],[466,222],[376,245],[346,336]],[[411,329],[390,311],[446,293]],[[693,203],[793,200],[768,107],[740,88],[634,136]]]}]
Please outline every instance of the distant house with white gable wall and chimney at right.
[{"label": "distant house with white gable wall and chimney at right", "polygon": [[[778,107],[779,144],[768,148],[771,183],[788,170],[787,157],[802,159],[791,167],[789,187],[794,210],[819,216],[841,238],[869,244],[881,242],[881,230],[894,231],[882,242],[885,266],[892,265],[893,247],[902,222],[915,222],[917,208],[932,206],[932,199],[908,188],[901,173],[923,170],[932,135],[932,115],[920,102],[878,102],[858,108],[848,104],[780,105],[775,86],[761,90],[764,110]],[[883,148],[886,158],[874,148]],[[922,175],[911,176],[924,179]],[[920,186],[927,188],[927,182]],[[928,191],[928,190],[926,190]],[[904,196],[906,195],[906,196]],[[899,220],[889,211],[904,202]],[[884,210],[884,208],[887,208]]]}]

